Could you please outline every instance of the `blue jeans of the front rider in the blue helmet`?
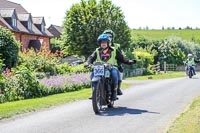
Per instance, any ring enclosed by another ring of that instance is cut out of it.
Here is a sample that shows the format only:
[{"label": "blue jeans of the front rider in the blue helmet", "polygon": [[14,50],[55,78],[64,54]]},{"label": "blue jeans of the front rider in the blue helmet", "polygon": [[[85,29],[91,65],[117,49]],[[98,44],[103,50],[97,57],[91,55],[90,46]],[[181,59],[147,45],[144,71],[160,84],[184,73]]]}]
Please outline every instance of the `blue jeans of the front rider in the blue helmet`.
[{"label": "blue jeans of the front rider in the blue helmet", "polygon": [[[94,77],[94,72],[92,71],[91,75],[90,75],[91,80],[92,80],[93,77]],[[114,88],[117,88],[118,82],[120,80],[120,75],[119,75],[119,70],[115,67],[113,67],[111,69],[111,78],[112,78],[112,81],[113,81],[113,84],[114,84]]]}]

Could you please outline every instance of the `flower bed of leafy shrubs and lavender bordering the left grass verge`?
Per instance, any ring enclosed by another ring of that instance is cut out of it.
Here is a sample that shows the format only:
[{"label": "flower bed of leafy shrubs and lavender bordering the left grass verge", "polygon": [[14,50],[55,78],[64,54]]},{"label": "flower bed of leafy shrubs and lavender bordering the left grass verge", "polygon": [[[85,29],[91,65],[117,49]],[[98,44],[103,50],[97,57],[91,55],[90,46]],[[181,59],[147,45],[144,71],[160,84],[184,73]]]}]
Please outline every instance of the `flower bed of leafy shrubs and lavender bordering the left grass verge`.
[{"label": "flower bed of leafy shrubs and lavender bordering the left grass verge", "polygon": [[36,79],[34,73],[21,66],[15,72],[6,71],[0,78],[0,103],[44,97],[47,95],[77,91],[90,87],[90,73],[51,76]]}]

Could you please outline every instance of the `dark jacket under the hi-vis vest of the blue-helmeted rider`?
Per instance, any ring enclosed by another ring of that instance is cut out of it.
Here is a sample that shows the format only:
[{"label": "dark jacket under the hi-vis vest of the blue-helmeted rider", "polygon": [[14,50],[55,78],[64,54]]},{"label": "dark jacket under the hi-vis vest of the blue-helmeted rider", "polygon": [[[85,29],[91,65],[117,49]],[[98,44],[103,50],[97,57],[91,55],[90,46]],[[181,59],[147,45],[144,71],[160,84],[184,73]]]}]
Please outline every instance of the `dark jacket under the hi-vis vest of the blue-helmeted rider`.
[{"label": "dark jacket under the hi-vis vest of the blue-helmeted rider", "polygon": [[[110,49],[111,51],[114,50],[112,47],[109,47],[109,49]],[[103,49],[102,49],[102,48],[98,48],[98,50],[99,50],[99,54],[101,54]],[[100,55],[100,57],[101,57],[101,55]],[[95,51],[88,57],[87,63],[88,63],[88,64],[92,64],[96,59],[97,59],[97,53],[96,53],[96,50],[95,50]],[[121,53],[118,49],[116,50],[116,60],[117,60],[117,62],[121,62],[121,63],[124,63],[124,64],[129,64],[129,65],[131,65],[131,63],[129,62],[129,59],[126,58],[126,57],[124,57],[124,56],[122,55],[122,53]]]}]

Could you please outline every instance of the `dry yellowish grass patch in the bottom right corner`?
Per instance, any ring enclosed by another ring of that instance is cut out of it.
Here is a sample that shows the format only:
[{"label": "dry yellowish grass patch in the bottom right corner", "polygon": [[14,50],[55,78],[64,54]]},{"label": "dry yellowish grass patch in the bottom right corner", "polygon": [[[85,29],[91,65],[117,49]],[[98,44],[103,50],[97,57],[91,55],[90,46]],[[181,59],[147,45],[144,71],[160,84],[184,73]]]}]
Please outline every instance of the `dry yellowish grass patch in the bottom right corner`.
[{"label": "dry yellowish grass patch in the bottom right corner", "polygon": [[172,123],[167,133],[200,133],[200,97]]}]

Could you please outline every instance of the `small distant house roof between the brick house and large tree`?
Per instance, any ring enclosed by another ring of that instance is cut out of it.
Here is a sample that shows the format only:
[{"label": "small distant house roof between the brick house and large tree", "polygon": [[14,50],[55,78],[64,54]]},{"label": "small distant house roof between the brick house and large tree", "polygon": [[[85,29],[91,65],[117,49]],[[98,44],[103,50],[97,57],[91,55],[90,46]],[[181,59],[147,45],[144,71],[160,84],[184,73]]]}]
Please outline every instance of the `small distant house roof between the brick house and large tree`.
[{"label": "small distant house roof between the brick house and large tree", "polygon": [[60,38],[60,36],[62,35],[62,32],[63,32],[63,28],[60,26],[51,24],[48,28],[48,31],[50,31],[54,37]]}]

